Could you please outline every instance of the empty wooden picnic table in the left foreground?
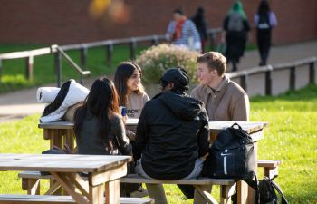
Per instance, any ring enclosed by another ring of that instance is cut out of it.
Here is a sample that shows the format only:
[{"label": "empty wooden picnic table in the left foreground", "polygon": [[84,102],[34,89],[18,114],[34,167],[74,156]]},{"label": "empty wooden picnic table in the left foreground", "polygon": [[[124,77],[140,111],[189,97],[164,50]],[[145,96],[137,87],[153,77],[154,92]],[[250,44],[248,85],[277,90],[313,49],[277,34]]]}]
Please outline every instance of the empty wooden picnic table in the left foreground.
[{"label": "empty wooden picnic table in the left foreground", "polygon": [[[127,162],[131,160],[130,156],[0,154],[0,171],[48,171],[76,203],[105,203],[104,195],[106,203],[119,203],[119,179],[127,174]],[[87,174],[88,182],[79,176],[80,172]]]}]

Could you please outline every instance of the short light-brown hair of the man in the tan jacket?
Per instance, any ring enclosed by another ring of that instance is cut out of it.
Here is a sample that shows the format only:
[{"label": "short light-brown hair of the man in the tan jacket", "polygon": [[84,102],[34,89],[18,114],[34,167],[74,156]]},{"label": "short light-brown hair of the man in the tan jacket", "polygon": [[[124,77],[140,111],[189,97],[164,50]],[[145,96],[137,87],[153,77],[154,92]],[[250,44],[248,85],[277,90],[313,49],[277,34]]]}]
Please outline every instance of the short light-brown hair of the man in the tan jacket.
[{"label": "short light-brown hair of the man in the tan jacket", "polygon": [[208,52],[197,57],[196,63],[207,63],[209,70],[215,70],[219,76],[226,73],[226,57],[221,53]]}]

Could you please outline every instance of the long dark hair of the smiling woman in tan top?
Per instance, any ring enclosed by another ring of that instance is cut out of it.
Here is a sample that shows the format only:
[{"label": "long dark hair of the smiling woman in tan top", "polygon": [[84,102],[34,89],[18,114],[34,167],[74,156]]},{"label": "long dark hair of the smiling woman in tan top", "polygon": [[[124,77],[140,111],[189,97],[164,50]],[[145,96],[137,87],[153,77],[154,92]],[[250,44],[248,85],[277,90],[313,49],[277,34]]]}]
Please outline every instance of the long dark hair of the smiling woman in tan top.
[{"label": "long dark hair of the smiling woman in tan top", "polygon": [[[142,75],[142,70],[137,63],[124,62],[119,64],[116,73],[114,73],[114,85],[116,86],[117,92],[119,94],[120,105],[125,106],[127,103],[127,81],[135,70],[138,70],[139,73]],[[135,92],[137,94],[144,93],[144,88],[142,84],[139,85],[139,90]]]}]

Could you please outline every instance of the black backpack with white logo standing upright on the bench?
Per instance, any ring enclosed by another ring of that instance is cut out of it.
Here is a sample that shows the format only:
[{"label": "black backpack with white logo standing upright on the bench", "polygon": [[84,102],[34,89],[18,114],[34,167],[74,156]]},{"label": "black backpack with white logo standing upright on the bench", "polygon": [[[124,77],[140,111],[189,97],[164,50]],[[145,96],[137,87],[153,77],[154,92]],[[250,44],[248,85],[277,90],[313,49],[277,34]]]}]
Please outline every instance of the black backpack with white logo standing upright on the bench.
[{"label": "black backpack with white logo standing upright on the bench", "polygon": [[253,180],[254,144],[237,123],[220,131],[209,149],[202,176],[218,179]]}]

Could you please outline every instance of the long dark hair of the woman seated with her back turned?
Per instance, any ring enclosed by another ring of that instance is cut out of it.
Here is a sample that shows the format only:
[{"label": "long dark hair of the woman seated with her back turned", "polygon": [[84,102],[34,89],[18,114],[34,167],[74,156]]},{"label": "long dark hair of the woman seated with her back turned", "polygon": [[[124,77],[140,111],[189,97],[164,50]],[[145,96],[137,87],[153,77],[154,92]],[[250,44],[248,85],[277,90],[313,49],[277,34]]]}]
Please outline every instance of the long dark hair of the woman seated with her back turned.
[{"label": "long dark hair of the woman seated with her back turned", "polygon": [[91,91],[81,108],[75,112],[74,132],[79,135],[82,123],[90,112],[99,121],[99,135],[107,138],[110,131],[110,117],[119,114],[118,93],[114,84],[106,77],[101,77],[92,83]]}]

